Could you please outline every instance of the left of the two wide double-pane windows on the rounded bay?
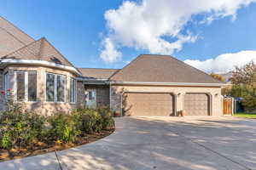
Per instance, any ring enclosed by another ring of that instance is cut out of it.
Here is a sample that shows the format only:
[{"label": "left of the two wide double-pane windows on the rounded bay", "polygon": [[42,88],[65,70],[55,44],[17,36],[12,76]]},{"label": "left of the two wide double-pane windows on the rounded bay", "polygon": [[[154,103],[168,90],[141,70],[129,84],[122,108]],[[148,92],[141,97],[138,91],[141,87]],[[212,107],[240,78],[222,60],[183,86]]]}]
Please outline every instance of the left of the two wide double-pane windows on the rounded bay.
[{"label": "left of the two wide double-pane windows on the rounded bay", "polygon": [[15,100],[37,101],[36,71],[15,71]]}]

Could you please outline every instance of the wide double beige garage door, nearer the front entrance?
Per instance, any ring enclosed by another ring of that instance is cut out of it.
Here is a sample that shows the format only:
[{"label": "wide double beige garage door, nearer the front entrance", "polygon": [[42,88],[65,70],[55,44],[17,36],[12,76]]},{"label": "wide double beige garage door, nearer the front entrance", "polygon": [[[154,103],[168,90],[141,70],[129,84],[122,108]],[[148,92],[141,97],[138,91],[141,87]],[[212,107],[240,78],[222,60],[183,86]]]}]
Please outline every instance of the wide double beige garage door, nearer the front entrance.
[{"label": "wide double beige garage door, nearer the front entrance", "polygon": [[172,116],[172,94],[124,94],[125,116]]}]

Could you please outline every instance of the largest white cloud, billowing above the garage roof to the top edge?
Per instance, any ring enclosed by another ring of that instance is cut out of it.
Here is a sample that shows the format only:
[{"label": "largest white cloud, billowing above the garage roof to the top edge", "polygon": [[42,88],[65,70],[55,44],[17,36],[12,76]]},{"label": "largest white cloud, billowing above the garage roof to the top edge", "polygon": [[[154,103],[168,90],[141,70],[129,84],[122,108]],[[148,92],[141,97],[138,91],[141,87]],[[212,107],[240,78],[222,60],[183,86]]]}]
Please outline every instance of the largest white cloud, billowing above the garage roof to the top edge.
[{"label": "largest white cloud, billowing above the garage roof to the top edge", "polygon": [[[226,16],[235,20],[237,9],[252,2],[256,0],[125,1],[119,8],[105,13],[108,38],[113,46],[148,50],[151,54],[172,54],[180,50],[183,43],[195,42],[195,35],[183,33],[193,15],[204,14],[205,22],[202,20],[201,24]],[[114,58],[107,52],[102,52],[105,59]]]}]

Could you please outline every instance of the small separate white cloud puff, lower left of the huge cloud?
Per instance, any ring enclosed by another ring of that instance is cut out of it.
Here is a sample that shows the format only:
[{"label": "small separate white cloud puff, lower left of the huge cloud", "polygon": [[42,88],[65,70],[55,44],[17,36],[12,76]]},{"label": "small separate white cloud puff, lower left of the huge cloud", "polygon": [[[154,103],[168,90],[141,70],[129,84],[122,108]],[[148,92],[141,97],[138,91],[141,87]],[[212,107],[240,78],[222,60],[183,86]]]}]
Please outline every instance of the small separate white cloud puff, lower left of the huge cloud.
[{"label": "small separate white cloud puff, lower left of the huge cloud", "polygon": [[102,41],[102,46],[104,47],[104,49],[102,50],[100,57],[103,61],[107,63],[113,63],[118,61],[122,57],[122,54],[116,50],[110,38],[105,38]]}]

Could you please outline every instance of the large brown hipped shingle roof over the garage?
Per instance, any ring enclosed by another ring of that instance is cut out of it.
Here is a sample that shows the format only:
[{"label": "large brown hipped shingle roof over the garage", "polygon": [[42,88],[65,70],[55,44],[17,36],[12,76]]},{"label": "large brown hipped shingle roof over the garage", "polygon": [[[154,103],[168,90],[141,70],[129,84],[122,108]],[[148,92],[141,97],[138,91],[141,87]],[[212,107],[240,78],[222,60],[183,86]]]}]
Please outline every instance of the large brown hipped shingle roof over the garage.
[{"label": "large brown hipped shingle roof over the garage", "polygon": [[110,77],[116,82],[192,82],[220,83],[169,55],[142,54]]}]

